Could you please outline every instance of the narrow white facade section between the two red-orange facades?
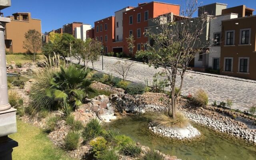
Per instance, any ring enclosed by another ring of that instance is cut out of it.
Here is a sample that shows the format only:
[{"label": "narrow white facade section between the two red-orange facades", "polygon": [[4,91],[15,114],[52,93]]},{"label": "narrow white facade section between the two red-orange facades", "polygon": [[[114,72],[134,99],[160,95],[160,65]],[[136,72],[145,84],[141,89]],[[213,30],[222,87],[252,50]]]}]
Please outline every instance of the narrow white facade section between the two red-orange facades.
[{"label": "narrow white facade section between the two red-orange facades", "polygon": [[116,42],[120,42],[123,40],[123,12],[130,10],[134,7],[126,7],[123,8],[122,10],[118,10],[115,12],[115,32],[116,32],[116,37],[115,40]]}]

